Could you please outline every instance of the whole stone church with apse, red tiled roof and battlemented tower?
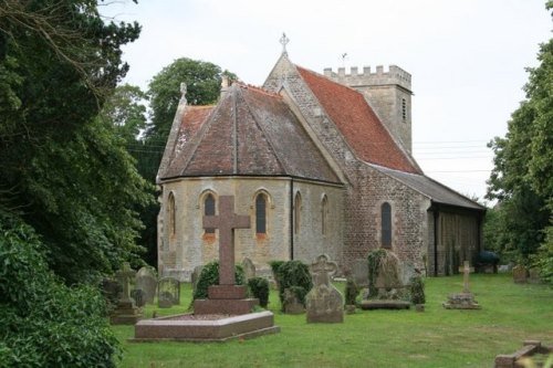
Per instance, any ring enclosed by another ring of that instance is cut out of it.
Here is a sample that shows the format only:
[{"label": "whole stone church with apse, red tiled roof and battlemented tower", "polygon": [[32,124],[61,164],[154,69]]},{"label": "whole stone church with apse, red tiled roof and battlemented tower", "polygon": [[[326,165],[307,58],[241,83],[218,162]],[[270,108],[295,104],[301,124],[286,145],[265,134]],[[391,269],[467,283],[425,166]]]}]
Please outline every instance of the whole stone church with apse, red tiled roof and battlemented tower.
[{"label": "whole stone church with apse, red tiled roof and battlemented tower", "polygon": [[429,276],[457,273],[482,249],[484,208],[425,176],[411,156],[410,74],[356,67],[319,74],[285,48],[261,87],[225,85],[215,106],[191,106],[186,86],[159,167],[160,275],[190,280],[218,259],[218,198],[251,228],[236,230],[237,262],[342,270],[376,248]]}]

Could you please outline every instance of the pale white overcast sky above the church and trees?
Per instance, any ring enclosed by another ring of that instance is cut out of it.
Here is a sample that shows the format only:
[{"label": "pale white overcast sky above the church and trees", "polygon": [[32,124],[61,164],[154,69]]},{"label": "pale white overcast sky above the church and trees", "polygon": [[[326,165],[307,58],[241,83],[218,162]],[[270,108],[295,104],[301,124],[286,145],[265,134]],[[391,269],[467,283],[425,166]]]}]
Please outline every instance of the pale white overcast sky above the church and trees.
[{"label": "pale white overcast sky above the church and trees", "polygon": [[526,67],[539,65],[539,44],[553,29],[545,0],[122,0],[101,12],[142,24],[123,59],[124,82],[143,90],[179,57],[261,85],[283,32],[290,60],[319,73],[397,65],[411,74],[415,159],[480,199],[493,167],[487,143],[505,135]]}]

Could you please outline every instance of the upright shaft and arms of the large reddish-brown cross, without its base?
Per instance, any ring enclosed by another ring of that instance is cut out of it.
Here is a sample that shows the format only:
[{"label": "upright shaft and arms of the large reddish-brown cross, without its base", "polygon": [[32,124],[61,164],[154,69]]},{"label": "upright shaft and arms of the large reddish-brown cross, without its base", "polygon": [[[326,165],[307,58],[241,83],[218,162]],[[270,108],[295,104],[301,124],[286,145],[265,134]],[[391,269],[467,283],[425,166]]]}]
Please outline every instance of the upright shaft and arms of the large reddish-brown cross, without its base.
[{"label": "upright shaft and arms of the large reddish-brown cross, without its base", "polygon": [[249,229],[250,217],[234,213],[234,196],[219,197],[219,214],[205,215],[204,229],[219,229],[219,285],[234,285],[234,229]]}]

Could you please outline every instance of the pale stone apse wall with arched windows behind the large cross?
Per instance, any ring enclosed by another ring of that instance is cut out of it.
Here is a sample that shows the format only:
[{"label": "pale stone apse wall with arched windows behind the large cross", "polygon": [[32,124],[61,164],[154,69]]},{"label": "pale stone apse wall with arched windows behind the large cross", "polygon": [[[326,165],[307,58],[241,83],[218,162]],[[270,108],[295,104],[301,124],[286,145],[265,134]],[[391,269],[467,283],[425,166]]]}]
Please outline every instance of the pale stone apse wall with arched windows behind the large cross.
[{"label": "pale stone apse wall with arched windows behind the large cross", "polygon": [[[293,187],[293,188],[292,188]],[[330,222],[333,230],[342,222],[343,189],[337,186],[317,183],[291,178],[182,178],[164,182],[163,203],[159,215],[158,271],[160,275],[176,276],[189,281],[194,267],[218,259],[218,232],[206,233],[202,229],[205,198],[211,193],[234,196],[234,212],[249,214],[250,229],[236,230],[234,254],[239,263],[246,256],[251,259],[261,273],[269,272],[268,262],[290,260],[292,254],[291,196],[296,192],[303,198],[302,218],[305,231],[293,239],[293,257],[311,262],[321,252],[337,257],[342,240],[341,231],[321,233],[321,200],[326,196]],[[173,192],[176,203],[176,231],[169,234],[167,223],[167,198]],[[255,197],[268,198],[267,232],[255,232]]]}]

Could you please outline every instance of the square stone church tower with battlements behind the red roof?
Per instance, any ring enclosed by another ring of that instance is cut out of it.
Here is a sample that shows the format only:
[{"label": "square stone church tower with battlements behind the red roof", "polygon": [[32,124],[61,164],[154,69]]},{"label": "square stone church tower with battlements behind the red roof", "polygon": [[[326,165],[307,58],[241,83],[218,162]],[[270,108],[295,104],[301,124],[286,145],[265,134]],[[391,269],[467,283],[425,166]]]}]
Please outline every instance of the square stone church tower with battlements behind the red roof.
[{"label": "square stone church tower with battlements behind the red roof", "polygon": [[376,73],[369,66],[352,67],[346,74],[344,67],[335,73],[325,69],[324,75],[334,82],[349,86],[363,93],[365,99],[376,112],[394,137],[411,154],[411,75],[403,69],[390,65],[388,72],[376,66]]}]

